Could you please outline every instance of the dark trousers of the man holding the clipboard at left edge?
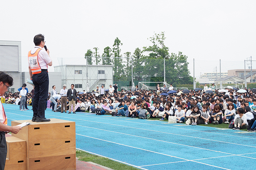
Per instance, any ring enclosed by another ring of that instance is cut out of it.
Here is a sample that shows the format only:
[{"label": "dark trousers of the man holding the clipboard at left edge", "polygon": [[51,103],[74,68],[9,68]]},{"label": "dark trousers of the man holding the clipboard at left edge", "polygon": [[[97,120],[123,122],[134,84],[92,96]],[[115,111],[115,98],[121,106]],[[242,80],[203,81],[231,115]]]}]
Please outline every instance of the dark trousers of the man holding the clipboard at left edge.
[{"label": "dark trousers of the man holding the clipboard at left edge", "polygon": [[0,170],[4,170],[7,155],[5,132],[0,132]]}]

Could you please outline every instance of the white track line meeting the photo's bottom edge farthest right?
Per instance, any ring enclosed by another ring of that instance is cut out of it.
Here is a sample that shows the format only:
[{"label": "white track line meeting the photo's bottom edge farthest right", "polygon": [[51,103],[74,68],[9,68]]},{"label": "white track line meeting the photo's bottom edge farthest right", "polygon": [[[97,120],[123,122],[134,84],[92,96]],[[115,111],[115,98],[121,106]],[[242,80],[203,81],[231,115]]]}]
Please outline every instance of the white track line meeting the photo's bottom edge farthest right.
[{"label": "white track line meeting the photo's bottom edge farthest right", "polygon": [[[76,134],[76,135],[80,135],[80,134]],[[116,142],[111,142],[111,141],[106,141],[106,140],[103,140],[103,139],[93,138],[93,137],[89,137],[89,136],[85,136],[85,135],[80,135],[80,136],[87,137],[87,138],[92,138],[92,139],[96,139],[96,140],[100,140],[100,141],[115,143],[115,144],[131,147],[131,148],[135,148],[135,149],[145,150],[145,151],[148,151],[148,152],[157,153],[157,154],[161,154],[161,155],[165,155],[165,156],[175,157],[175,158],[178,158],[178,159],[192,161],[192,162],[196,162],[196,163],[200,163],[200,164],[204,164],[204,165],[208,165],[208,166],[212,166],[212,167],[216,167],[216,168],[226,169],[226,168],[222,168],[222,167],[219,167],[219,166],[214,166],[214,165],[210,165],[210,164],[206,164],[206,163],[202,163],[202,162],[197,162],[197,161],[193,161],[193,160],[189,160],[189,159],[185,159],[185,158],[180,158],[180,157],[177,157],[177,156],[172,156],[172,155],[167,155],[167,154],[164,154],[164,153],[155,152],[155,151],[152,151],[152,150],[142,149],[142,148],[129,146],[129,145],[125,145],[125,144],[120,144],[120,143],[116,143]],[[226,169],[226,170],[230,170],[230,169]]]}]

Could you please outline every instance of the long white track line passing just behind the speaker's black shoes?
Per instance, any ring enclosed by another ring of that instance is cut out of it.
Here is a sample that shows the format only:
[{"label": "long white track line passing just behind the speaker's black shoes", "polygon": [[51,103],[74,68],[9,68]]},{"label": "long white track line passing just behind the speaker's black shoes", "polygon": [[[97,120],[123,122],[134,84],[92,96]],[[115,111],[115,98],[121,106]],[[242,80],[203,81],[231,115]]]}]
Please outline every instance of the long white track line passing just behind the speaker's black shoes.
[{"label": "long white track line passing just behind the speaker's black shoes", "polygon": [[[15,113],[11,113],[11,114],[15,114]],[[19,115],[19,114],[16,114],[16,115]],[[22,116],[24,116],[24,115],[22,115]],[[55,116],[55,115],[48,115],[48,116]],[[27,116],[27,117],[31,117],[31,116]],[[61,118],[67,118],[67,119],[75,119],[75,118],[68,118],[68,117],[63,117],[63,116],[55,116],[55,117],[61,117]],[[102,122],[96,122],[96,121],[89,121],[89,120],[83,120],[83,119],[75,119],[75,120],[81,120],[81,121],[87,121],[87,122],[93,122],[93,123],[101,123],[101,124],[114,125],[114,126],[121,126],[121,127],[140,129],[140,130],[146,130],[146,131],[152,131],[152,132],[159,132],[159,133],[165,133],[165,134],[170,134],[170,135],[177,135],[177,136],[184,136],[184,137],[190,137],[190,138],[196,138],[196,139],[203,139],[203,140],[207,140],[207,141],[224,142],[224,141],[216,141],[216,140],[205,139],[205,138],[192,137],[192,136],[187,136],[187,135],[173,134],[173,133],[168,133],[168,132],[161,132],[161,131],[154,131],[154,130],[148,130],[148,129],[142,129],[142,128],[129,127],[129,126],[122,126],[122,125],[115,125],[115,124],[102,123]],[[151,125],[151,124],[149,124],[149,125]],[[243,145],[243,144],[231,143],[231,142],[224,142],[224,143],[236,144],[236,145],[242,145],[242,146],[249,146],[249,147],[256,147],[256,146]]]}]

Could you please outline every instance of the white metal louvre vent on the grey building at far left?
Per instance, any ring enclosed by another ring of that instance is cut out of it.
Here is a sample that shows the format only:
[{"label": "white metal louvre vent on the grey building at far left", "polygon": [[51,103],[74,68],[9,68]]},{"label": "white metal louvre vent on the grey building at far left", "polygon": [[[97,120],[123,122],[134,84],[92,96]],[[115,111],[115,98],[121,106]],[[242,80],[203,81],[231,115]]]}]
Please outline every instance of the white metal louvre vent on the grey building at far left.
[{"label": "white metal louvre vent on the grey building at far left", "polygon": [[0,71],[19,71],[18,46],[0,45]]}]

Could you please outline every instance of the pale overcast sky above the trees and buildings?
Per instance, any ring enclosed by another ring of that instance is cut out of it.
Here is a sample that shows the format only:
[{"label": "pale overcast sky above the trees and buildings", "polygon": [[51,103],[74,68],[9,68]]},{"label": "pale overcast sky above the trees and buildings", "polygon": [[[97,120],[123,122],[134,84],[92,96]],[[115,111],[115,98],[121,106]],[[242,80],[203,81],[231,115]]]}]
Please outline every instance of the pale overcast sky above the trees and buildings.
[{"label": "pale overcast sky above the trees and buildings", "polygon": [[256,60],[255,7],[255,0],[1,1],[0,40],[21,41],[22,71],[27,71],[27,53],[38,33],[45,35],[57,66],[58,58],[79,64],[74,58],[93,47],[102,54],[116,37],[123,43],[122,54],[133,53],[152,45],[147,38],[154,32],[165,31],[169,52],[188,56],[192,76],[194,58],[198,77],[215,67],[219,73],[220,59],[221,72],[244,69],[250,56]]}]

